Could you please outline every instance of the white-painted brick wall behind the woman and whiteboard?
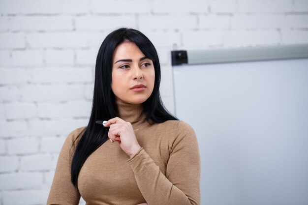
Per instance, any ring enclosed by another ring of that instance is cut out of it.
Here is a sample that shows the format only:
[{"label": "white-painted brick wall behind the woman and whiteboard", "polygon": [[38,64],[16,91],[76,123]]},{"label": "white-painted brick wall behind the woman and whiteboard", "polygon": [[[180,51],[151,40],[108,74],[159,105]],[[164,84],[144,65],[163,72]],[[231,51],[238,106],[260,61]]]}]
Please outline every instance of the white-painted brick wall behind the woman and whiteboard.
[{"label": "white-painted brick wall behind the woman and whiteboard", "polygon": [[308,43],[308,0],[0,0],[0,205],[46,203],[67,134],[87,124],[98,48],[122,26],[154,43],[174,112],[175,45]]}]

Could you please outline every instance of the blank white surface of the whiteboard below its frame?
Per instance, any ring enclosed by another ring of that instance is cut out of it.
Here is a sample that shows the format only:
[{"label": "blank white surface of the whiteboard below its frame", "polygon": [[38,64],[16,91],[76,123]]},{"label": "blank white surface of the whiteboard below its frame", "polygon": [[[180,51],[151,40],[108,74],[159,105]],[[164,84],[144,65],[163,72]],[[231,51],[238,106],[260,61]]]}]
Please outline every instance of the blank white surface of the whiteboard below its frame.
[{"label": "blank white surface of the whiteboard below its frame", "polygon": [[308,205],[308,59],[173,66],[201,205]]}]

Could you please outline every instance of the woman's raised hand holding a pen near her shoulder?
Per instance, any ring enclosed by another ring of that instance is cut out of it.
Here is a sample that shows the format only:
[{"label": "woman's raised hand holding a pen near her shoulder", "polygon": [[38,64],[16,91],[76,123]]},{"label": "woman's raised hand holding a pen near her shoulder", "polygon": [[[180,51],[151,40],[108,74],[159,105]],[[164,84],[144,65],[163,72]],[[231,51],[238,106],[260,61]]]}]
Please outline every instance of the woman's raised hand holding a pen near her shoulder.
[{"label": "woman's raised hand holding a pen near her shoulder", "polygon": [[130,122],[126,122],[120,117],[115,117],[109,119],[104,126],[109,126],[108,137],[110,141],[117,142],[130,158],[141,148]]}]

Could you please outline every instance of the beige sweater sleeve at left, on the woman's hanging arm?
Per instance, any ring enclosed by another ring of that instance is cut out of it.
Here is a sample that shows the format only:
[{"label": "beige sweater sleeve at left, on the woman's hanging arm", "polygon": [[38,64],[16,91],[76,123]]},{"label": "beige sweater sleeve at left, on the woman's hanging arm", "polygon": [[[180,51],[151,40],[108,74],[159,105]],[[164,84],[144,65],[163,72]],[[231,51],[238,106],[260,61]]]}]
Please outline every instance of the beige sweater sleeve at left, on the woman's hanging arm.
[{"label": "beige sweater sleeve at left, on the woman's hanging arm", "polygon": [[72,157],[71,147],[81,129],[71,132],[62,146],[47,205],[79,204],[79,191],[71,182],[70,161]]}]

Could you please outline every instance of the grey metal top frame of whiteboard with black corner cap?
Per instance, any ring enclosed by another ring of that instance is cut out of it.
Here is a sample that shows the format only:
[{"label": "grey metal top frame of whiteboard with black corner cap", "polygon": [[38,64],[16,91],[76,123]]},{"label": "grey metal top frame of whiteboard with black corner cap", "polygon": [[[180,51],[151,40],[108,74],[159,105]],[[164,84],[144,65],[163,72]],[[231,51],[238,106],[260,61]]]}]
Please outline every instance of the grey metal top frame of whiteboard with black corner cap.
[{"label": "grey metal top frame of whiteboard with black corner cap", "polygon": [[308,44],[171,51],[172,65],[308,58]]}]

